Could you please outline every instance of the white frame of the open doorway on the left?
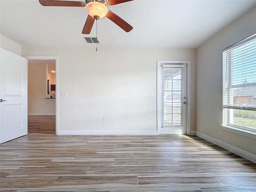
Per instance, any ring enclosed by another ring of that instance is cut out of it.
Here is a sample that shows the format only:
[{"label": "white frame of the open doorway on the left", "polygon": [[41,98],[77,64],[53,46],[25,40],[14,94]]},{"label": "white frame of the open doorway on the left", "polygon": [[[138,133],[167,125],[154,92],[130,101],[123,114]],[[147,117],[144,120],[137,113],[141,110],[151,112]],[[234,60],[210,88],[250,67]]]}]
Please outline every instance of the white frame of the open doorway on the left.
[{"label": "white frame of the open doorway on the left", "polygon": [[55,115],[56,115],[56,127],[55,127],[55,134],[58,135],[58,122],[59,122],[59,118],[58,118],[58,97],[59,97],[59,88],[58,88],[58,56],[22,56],[24,58],[26,58],[27,60],[55,60],[55,71],[56,71],[56,111],[55,111]]}]

